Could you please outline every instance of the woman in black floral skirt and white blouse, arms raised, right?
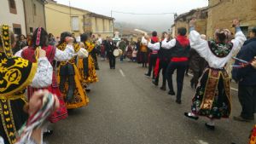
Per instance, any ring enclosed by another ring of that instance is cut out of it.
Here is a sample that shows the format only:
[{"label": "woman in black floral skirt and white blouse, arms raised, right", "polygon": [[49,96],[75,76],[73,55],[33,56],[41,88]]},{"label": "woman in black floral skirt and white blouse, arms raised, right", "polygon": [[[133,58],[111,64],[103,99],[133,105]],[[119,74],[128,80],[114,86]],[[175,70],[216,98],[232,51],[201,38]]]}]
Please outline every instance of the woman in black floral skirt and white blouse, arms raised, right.
[{"label": "woman in black floral skirt and white blouse, arms raised, right", "polygon": [[224,66],[231,59],[236,49],[246,41],[241,32],[239,21],[234,20],[236,26],[235,39],[228,41],[230,31],[218,29],[215,40],[207,42],[201,39],[195,31],[195,20],[190,21],[189,40],[191,48],[195,49],[201,57],[208,62],[208,67],[201,76],[192,103],[192,112],[185,112],[188,118],[198,119],[199,116],[210,118],[207,128],[214,130],[214,119],[229,118],[231,112],[230,78]]}]

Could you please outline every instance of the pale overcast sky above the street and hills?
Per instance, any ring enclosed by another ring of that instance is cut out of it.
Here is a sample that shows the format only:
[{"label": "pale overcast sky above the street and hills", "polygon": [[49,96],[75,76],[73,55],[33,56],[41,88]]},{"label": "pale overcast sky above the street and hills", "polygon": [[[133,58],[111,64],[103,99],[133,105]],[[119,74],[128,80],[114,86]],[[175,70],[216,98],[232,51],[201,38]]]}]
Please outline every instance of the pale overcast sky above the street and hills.
[{"label": "pale overcast sky above the street and hills", "polygon": [[[86,9],[97,14],[111,15],[111,10],[139,14],[177,13],[206,7],[208,0],[55,0],[58,3]],[[116,21],[145,26],[150,31],[167,31],[173,24],[173,14],[134,15],[113,12]]]}]

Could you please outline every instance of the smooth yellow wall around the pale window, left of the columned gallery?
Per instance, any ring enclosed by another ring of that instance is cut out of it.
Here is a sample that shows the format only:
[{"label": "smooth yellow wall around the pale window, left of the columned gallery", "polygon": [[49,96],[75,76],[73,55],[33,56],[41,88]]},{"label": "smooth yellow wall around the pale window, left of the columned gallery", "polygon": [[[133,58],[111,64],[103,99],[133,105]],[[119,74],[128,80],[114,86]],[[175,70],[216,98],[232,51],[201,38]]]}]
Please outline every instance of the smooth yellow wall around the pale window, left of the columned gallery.
[{"label": "smooth yellow wall around the pale window, left of the columned gallery", "polygon": [[[70,14],[71,11],[71,14]],[[47,32],[60,36],[61,32],[74,32],[76,36],[84,32],[84,11],[69,9],[55,3],[45,5]],[[79,31],[72,31],[71,17],[79,17]]]}]

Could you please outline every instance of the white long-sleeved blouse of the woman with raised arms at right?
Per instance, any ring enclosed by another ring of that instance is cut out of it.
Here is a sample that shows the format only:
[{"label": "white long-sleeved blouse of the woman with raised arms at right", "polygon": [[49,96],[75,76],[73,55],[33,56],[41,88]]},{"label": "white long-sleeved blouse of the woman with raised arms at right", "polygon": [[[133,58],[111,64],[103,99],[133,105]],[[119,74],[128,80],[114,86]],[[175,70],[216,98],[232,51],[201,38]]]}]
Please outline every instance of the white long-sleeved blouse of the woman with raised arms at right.
[{"label": "white long-sleeved blouse of the woman with raised arms at right", "polygon": [[226,57],[220,58],[212,54],[211,49],[209,48],[207,40],[201,39],[200,34],[195,30],[192,30],[189,33],[189,42],[192,49],[195,49],[201,57],[207,60],[208,64],[212,68],[223,68],[226,63],[231,59],[233,53],[240,49],[242,44],[247,40],[245,35],[241,32],[240,29],[236,32],[235,39],[232,39],[233,48],[230,51],[230,54]]}]

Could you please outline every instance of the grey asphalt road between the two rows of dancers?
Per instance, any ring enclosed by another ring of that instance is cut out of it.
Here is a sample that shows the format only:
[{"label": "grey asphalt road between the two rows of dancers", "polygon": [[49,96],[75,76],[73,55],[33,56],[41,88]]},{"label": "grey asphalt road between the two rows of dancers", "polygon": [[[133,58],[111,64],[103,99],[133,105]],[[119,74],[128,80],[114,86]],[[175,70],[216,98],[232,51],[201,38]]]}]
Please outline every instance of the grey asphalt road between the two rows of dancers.
[{"label": "grey asphalt road between the two rows of dancers", "polygon": [[[49,144],[246,144],[253,123],[232,120],[241,107],[232,90],[230,119],[217,121],[207,130],[207,118],[185,118],[195,91],[185,78],[183,103],[167,95],[144,77],[147,69],[137,63],[117,60],[115,70],[100,61],[100,81],[91,85],[90,105],[69,111],[69,117],[54,125]],[[173,78],[175,79],[175,78]],[[176,86],[175,82],[174,85]],[[236,89],[236,84],[232,84]]]}]

